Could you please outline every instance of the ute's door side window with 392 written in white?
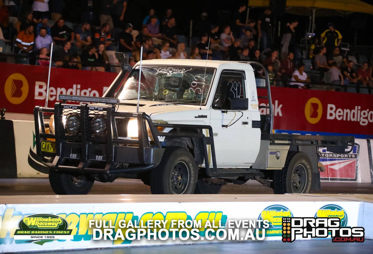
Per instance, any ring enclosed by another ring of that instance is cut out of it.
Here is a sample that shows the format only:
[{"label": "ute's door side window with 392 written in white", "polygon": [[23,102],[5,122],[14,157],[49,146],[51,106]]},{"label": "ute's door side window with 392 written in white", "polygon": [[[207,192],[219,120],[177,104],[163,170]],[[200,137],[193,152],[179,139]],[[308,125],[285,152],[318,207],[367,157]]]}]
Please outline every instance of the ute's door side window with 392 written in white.
[{"label": "ute's door side window with 392 written in white", "polygon": [[231,109],[230,100],[246,98],[245,74],[242,71],[223,71],[212,103],[213,109]]}]

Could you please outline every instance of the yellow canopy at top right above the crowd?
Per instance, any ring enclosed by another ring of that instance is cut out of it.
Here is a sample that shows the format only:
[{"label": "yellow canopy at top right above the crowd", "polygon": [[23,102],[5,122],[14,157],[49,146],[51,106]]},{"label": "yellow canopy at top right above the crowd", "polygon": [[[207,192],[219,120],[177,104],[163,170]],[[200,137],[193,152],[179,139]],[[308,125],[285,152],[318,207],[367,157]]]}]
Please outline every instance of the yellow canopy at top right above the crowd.
[{"label": "yellow canopy at top right above the crowd", "polygon": [[[269,0],[249,0],[249,6],[269,6]],[[287,0],[286,7],[314,7],[373,14],[373,6],[359,0]]]}]

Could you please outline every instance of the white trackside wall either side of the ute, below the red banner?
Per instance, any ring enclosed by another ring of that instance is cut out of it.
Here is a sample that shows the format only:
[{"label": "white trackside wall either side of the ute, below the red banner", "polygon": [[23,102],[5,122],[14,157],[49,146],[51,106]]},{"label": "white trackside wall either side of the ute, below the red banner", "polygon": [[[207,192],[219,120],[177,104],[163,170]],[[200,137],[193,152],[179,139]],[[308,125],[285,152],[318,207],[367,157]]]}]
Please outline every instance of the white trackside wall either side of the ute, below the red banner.
[{"label": "white trackside wall either side of the ute, below the red banner", "polygon": [[[13,120],[17,177],[47,177],[48,168],[36,155],[33,121]],[[373,139],[355,139],[350,154],[333,154],[320,148],[320,162],[326,167],[322,181],[373,182]],[[1,168],[1,165],[0,165]],[[1,177],[1,176],[0,176]]]}]

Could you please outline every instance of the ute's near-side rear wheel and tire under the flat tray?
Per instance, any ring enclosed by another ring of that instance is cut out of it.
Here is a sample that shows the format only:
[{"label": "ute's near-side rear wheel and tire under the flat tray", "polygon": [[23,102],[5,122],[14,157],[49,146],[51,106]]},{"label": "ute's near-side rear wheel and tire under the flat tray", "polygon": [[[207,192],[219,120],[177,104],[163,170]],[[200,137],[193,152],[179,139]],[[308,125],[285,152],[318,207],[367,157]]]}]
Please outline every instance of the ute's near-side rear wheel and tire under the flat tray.
[{"label": "ute's near-side rear wheel and tire under the flat tray", "polygon": [[312,164],[304,152],[289,152],[285,167],[273,175],[275,194],[311,192]]}]

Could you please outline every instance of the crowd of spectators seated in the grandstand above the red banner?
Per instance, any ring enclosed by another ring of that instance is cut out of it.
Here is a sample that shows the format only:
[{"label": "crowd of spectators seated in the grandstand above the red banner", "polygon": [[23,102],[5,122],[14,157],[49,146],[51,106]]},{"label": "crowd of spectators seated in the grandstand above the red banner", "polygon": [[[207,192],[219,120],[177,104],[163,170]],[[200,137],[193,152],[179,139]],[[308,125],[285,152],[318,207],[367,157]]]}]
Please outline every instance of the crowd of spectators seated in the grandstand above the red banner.
[{"label": "crowd of spectators seated in the grandstand above the red banner", "polygon": [[[311,83],[331,84],[332,90],[353,85],[357,92],[367,87],[372,93],[372,64],[342,52],[342,35],[335,24],[325,24],[321,35],[310,36],[307,54],[301,56],[295,43],[298,20],[286,24],[280,43],[271,36],[273,17],[270,9],[261,10],[257,20],[242,21],[247,2],[238,4],[232,22],[214,25],[206,12],[195,22],[198,39],[179,34],[177,14],[172,9],[155,13],[150,8],[141,17],[142,27],[123,23],[127,0],[83,1],[80,23],[62,16],[62,0],[29,1],[29,9],[19,11],[19,0],[0,0],[0,53],[6,43],[19,54],[16,63],[82,69],[117,71],[114,52],[129,55],[134,66],[142,59],[199,59],[256,61],[267,68],[273,86],[308,89]],[[99,4],[100,12],[94,12]],[[139,17],[140,18],[140,17]],[[94,26],[99,20],[100,26]],[[53,57],[50,60],[51,42]],[[280,45],[277,48],[273,45]],[[1,55],[0,55],[1,56]],[[257,70],[256,74],[261,75]]]}]

